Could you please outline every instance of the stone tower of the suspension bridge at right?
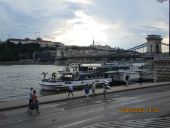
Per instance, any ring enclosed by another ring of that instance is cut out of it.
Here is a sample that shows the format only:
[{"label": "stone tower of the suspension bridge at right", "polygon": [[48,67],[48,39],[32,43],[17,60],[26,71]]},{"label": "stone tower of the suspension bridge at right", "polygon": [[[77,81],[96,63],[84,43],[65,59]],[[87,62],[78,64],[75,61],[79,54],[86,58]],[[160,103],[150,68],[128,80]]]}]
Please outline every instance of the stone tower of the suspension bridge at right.
[{"label": "stone tower of the suspension bridge at right", "polygon": [[162,53],[160,35],[148,35],[147,39],[147,52],[148,53]]}]

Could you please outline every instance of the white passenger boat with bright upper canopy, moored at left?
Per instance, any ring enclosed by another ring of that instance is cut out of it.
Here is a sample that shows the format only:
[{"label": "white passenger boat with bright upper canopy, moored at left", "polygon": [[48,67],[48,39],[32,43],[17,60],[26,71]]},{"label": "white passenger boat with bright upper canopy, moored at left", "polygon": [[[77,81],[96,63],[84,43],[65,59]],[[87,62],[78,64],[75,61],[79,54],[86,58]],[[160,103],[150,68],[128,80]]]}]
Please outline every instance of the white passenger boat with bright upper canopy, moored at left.
[{"label": "white passenger boat with bright upper canopy, moored at left", "polygon": [[43,90],[60,90],[68,88],[70,84],[73,87],[83,85],[103,84],[106,81],[111,82],[112,77],[105,77],[105,73],[101,71],[101,64],[72,64],[60,73],[58,78],[43,79],[40,85]]}]

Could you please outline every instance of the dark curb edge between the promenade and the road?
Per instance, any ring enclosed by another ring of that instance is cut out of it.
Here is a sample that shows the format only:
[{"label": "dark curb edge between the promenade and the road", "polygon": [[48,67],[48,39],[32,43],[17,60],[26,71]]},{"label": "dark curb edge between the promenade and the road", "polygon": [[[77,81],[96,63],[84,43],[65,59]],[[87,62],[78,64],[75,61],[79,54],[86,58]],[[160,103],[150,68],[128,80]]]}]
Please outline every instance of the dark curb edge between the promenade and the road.
[{"label": "dark curb edge between the promenade and the road", "polygon": [[[170,83],[164,83],[164,84],[158,84],[158,85],[150,85],[150,86],[142,86],[139,85],[140,87],[136,87],[136,88],[127,88],[127,89],[123,89],[123,90],[115,90],[115,91],[109,91],[107,92],[108,94],[111,93],[117,93],[117,92],[125,92],[125,91],[129,91],[129,90],[138,90],[138,89],[143,89],[143,88],[150,88],[150,87],[158,87],[158,86],[166,86],[166,85],[170,85]],[[113,87],[113,86],[112,86]],[[98,95],[103,95],[102,92],[95,94],[96,96]],[[89,95],[89,97],[91,97],[92,94]],[[61,102],[61,101],[68,101],[68,100],[72,100],[72,99],[79,99],[79,98],[85,98],[86,96],[77,96],[77,97],[72,97],[72,98],[63,98],[63,99],[56,99],[56,100],[52,100],[52,101],[44,101],[44,102],[40,102],[39,104],[48,104],[48,103],[54,103],[54,102]],[[4,111],[4,110],[12,110],[12,109],[17,109],[17,108],[23,108],[23,107],[27,107],[27,104],[23,104],[23,105],[18,105],[18,106],[13,106],[13,107],[6,107],[6,108],[0,108],[0,111]]]}]

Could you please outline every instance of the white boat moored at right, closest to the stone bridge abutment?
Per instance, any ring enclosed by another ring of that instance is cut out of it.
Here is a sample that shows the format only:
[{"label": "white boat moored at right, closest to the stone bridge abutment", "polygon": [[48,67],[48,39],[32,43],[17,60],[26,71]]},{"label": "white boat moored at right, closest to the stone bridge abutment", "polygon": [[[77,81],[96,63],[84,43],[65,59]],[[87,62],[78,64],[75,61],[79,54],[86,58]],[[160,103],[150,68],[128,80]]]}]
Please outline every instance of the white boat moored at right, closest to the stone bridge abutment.
[{"label": "white boat moored at right, closest to the stone bridge abutment", "polygon": [[106,74],[112,75],[112,82],[126,82],[126,76],[128,76],[129,82],[139,82],[141,77],[142,81],[153,81],[153,73],[149,69],[146,63],[129,63],[129,64],[106,64],[103,66]]}]

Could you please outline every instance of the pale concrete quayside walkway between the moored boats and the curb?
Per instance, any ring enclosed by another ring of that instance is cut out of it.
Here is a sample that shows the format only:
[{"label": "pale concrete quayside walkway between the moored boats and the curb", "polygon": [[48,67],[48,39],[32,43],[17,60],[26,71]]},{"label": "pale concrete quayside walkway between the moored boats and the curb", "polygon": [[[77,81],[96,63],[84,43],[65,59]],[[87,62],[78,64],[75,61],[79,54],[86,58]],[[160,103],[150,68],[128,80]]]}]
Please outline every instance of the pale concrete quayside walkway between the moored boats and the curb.
[{"label": "pale concrete quayside walkway between the moored boats and the curb", "polygon": [[[142,85],[140,85],[139,83],[135,83],[135,84],[130,84],[128,86],[126,85],[112,86],[111,89],[108,90],[108,93],[135,90],[135,89],[148,88],[148,87],[154,87],[154,86],[163,86],[163,85],[170,85],[170,82],[142,83]],[[101,94],[103,94],[103,89],[97,88],[96,95],[101,95]],[[57,102],[57,101],[71,100],[71,99],[85,97],[83,90],[75,91],[73,97],[70,95],[70,97],[68,98],[67,95],[68,93],[61,93],[61,94],[49,95],[49,96],[39,96],[38,100],[40,104],[45,104],[45,103],[52,103],[52,102]],[[92,95],[91,91],[90,91],[90,95]],[[0,111],[26,107],[27,104],[28,104],[28,99],[0,102]]]}]

